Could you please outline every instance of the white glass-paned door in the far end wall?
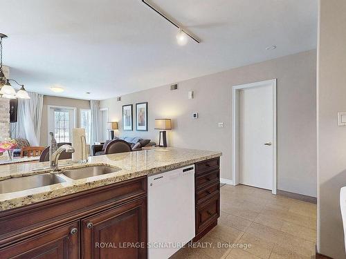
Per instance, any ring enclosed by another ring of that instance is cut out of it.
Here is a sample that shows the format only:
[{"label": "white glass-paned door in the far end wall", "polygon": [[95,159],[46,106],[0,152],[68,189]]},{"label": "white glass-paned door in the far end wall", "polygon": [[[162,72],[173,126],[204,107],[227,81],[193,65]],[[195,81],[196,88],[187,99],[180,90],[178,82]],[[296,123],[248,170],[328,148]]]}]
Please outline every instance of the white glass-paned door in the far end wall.
[{"label": "white glass-paned door in the far end wall", "polygon": [[49,107],[48,111],[48,144],[51,142],[50,132],[54,133],[57,143],[72,142],[72,129],[75,128],[75,109]]}]

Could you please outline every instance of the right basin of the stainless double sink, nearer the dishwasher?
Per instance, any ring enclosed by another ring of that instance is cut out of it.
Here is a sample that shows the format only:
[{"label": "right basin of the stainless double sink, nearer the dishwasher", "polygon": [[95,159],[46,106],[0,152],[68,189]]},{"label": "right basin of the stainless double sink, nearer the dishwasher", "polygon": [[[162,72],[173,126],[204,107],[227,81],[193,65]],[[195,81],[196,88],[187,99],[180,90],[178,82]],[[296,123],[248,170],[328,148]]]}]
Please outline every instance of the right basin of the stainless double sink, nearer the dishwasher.
[{"label": "right basin of the stainless double sink, nearer the dishwasher", "polygon": [[61,173],[68,178],[78,180],[82,178],[89,178],[96,175],[104,175],[106,173],[115,173],[120,169],[116,169],[111,166],[86,166],[78,169],[69,169],[62,171]]}]

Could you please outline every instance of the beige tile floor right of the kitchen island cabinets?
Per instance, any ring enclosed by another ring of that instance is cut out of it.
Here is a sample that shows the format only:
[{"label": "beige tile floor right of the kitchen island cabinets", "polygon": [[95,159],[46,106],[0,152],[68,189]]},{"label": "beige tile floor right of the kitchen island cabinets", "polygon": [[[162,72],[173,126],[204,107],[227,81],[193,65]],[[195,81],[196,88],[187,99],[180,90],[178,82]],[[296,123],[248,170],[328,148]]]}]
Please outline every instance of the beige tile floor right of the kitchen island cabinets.
[{"label": "beige tile floor right of the kitchen island cabinets", "polygon": [[[238,248],[225,247],[228,243]],[[170,259],[315,258],[316,204],[244,185],[222,186],[221,217],[200,240],[203,244],[183,248]]]}]

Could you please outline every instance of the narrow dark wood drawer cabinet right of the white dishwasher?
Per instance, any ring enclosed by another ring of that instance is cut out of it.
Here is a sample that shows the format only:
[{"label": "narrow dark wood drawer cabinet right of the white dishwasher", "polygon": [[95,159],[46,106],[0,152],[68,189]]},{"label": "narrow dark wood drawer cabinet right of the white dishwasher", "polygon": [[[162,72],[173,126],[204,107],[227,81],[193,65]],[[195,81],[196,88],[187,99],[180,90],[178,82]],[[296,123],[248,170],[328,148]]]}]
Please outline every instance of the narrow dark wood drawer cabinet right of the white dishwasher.
[{"label": "narrow dark wood drawer cabinet right of the white dishwasher", "polygon": [[217,225],[220,216],[220,159],[219,157],[195,165],[195,221],[196,237],[201,239]]}]

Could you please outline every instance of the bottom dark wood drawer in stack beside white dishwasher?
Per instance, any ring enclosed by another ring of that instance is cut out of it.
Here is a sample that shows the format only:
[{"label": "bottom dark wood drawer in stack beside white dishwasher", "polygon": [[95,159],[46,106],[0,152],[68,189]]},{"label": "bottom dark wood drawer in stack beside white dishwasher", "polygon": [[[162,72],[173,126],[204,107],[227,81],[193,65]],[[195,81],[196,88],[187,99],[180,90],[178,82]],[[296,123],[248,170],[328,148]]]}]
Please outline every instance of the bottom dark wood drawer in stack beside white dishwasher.
[{"label": "bottom dark wood drawer in stack beside white dishwasher", "polygon": [[220,196],[212,196],[210,200],[199,205],[196,209],[196,236],[206,229],[210,223],[217,220],[220,215]]}]

